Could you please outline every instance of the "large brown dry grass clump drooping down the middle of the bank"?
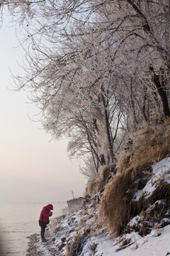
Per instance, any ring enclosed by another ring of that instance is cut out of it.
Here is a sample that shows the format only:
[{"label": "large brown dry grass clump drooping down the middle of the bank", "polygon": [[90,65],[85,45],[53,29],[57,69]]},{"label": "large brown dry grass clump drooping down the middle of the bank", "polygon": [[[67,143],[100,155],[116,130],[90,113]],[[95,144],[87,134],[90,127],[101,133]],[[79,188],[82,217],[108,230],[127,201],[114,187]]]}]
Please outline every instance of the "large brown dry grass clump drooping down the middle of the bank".
[{"label": "large brown dry grass clump drooping down the middle of the bank", "polygon": [[132,191],[129,188],[140,177],[142,177],[142,172],[138,170],[132,176],[132,169],[128,169],[115,176],[106,185],[101,199],[100,215],[108,223],[111,231],[117,235],[120,235],[128,220],[128,205],[136,191],[135,188]]}]

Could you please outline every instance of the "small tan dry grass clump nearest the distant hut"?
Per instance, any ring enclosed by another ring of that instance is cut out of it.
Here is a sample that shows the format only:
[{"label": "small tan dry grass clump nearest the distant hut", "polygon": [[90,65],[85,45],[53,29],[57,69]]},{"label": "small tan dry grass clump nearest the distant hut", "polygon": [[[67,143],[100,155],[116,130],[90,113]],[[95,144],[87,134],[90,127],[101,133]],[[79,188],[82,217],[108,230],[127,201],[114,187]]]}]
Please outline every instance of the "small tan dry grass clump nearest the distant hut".
[{"label": "small tan dry grass clump nearest the distant hut", "polygon": [[110,178],[110,166],[101,166],[98,169],[96,176],[93,176],[93,178],[88,181],[86,187],[86,196],[93,197],[96,195],[96,193],[98,193],[98,191],[102,191]]}]

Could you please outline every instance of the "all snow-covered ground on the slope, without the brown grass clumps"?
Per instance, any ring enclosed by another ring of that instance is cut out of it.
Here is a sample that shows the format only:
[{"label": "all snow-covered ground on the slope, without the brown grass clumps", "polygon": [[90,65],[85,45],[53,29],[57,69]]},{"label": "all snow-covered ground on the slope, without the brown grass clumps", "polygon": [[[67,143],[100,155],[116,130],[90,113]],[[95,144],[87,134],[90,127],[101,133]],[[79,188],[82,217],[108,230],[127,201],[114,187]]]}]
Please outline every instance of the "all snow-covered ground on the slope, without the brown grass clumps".
[{"label": "all snow-covered ground on the slope, without the brown grass clumps", "polygon": [[[152,176],[145,187],[135,193],[135,201],[152,196],[159,181],[170,183],[170,158],[154,164],[152,170]],[[165,203],[164,199],[155,201],[149,209],[155,209],[159,205],[164,208]],[[108,228],[101,225],[97,208],[93,204],[84,203],[77,212],[53,219],[53,223],[46,231],[47,242],[41,242],[40,233],[30,236],[28,256],[170,255],[169,206],[166,206],[161,220],[154,218],[153,223],[147,223],[147,235],[142,236],[135,230],[134,227],[141,225],[142,221],[142,216],[136,215],[128,223],[127,232],[115,238]]]}]

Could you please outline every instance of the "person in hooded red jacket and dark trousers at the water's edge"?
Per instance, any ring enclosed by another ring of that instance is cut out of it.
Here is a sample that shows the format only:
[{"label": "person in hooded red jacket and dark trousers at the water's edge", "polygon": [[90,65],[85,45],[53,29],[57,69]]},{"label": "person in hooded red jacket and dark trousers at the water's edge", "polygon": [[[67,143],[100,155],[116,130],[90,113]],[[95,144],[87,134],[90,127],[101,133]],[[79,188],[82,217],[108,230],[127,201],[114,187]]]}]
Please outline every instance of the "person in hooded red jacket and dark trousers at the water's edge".
[{"label": "person in hooded red jacket and dark trousers at the water's edge", "polygon": [[41,227],[42,242],[47,241],[45,239],[45,228],[47,227],[47,224],[50,223],[49,217],[52,216],[51,210],[53,210],[53,206],[52,204],[49,204],[47,206],[44,206],[40,213],[39,225]]}]

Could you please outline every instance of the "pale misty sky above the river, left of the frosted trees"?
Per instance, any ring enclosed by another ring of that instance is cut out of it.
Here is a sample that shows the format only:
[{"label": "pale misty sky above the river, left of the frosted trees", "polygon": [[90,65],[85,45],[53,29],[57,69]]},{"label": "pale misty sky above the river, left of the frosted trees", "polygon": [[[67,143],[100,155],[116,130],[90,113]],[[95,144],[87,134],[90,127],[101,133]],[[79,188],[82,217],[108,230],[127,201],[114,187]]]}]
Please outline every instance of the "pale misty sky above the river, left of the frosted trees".
[{"label": "pale misty sky above the river, left of the frosted trees", "polygon": [[[0,202],[54,202],[82,196],[86,178],[79,162],[69,161],[67,141],[50,142],[36,119],[38,108],[26,103],[27,92],[13,92],[14,74],[21,73],[23,49],[15,27],[0,28]],[[11,71],[10,71],[11,70]],[[28,117],[29,116],[29,117]]]}]

